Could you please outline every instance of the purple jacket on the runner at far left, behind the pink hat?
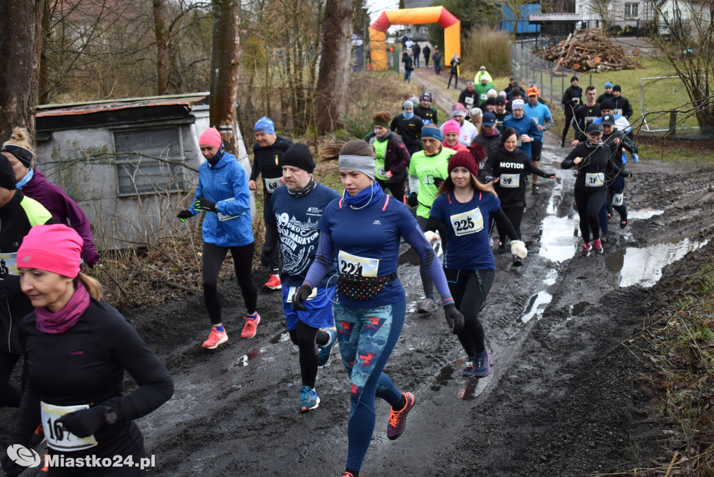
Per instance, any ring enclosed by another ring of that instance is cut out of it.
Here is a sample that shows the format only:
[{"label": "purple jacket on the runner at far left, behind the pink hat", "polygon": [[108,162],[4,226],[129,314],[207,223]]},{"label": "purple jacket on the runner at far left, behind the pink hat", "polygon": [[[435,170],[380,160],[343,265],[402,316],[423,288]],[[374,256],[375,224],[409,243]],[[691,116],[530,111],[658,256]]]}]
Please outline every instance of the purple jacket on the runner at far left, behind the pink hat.
[{"label": "purple jacket on the runner at far left, behind the pink hat", "polygon": [[44,174],[37,169],[33,169],[32,179],[22,186],[22,193],[45,206],[45,209],[60,224],[67,224],[69,220],[69,225],[72,229],[76,230],[77,234],[84,239],[82,258],[84,258],[85,263],[94,266],[99,261],[99,253],[96,251],[94,238],[91,236],[91,229],[89,229],[89,219],[60,186],[52,184]]}]

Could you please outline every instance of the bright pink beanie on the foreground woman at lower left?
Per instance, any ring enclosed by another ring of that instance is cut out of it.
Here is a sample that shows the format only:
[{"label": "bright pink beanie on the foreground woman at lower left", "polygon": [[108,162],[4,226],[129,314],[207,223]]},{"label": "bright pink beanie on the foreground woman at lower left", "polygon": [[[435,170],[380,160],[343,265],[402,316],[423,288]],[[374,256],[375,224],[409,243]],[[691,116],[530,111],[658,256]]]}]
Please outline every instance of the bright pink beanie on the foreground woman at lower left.
[{"label": "bright pink beanie on the foreground woman at lower left", "polygon": [[37,268],[74,278],[79,275],[84,240],[64,224],[36,225],[22,239],[17,268]]}]

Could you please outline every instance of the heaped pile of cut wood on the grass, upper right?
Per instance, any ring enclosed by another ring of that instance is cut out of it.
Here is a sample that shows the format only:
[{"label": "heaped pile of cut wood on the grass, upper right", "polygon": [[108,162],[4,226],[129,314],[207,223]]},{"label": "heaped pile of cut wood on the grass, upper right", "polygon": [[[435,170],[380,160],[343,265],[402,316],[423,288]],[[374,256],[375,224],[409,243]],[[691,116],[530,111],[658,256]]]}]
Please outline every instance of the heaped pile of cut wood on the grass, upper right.
[{"label": "heaped pile of cut wood on the grass, upper right", "polygon": [[614,44],[601,29],[575,31],[564,41],[544,50],[540,56],[555,63],[553,71],[560,66],[575,71],[616,71],[640,67],[630,61],[625,49]]}]

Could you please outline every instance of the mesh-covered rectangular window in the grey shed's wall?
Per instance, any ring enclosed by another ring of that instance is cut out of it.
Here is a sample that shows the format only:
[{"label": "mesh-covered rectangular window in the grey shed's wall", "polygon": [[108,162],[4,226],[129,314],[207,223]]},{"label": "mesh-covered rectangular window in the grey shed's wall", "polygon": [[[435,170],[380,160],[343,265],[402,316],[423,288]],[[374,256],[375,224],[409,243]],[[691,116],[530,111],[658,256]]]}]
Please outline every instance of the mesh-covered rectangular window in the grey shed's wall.
[{"label": "mesh-covered rectangular window in the grey shed's wall", "polygon": [[178,128],[115,131],[119,196],[183,192],[183,145]]}]

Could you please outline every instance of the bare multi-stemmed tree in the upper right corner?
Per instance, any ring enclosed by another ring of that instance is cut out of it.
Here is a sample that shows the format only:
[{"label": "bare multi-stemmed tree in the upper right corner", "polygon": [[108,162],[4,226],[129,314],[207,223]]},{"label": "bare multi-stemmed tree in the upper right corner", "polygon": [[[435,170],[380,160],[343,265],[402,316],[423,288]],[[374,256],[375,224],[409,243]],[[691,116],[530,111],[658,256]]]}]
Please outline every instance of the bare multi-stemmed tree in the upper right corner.
[{"label": "bare multi-stemmed tree in the upper right corner", "polygon": [[[651,41],[679,76],[690,103],[683,117],[696,116],[703,130],[714,129],[714,7],[710,2],[649,0],[655,12]],[[672,14],[672,12],[675,12]],[[677,94],[676,91],[670,93]],[[683,99],[684,102],[684,99]]]}]

